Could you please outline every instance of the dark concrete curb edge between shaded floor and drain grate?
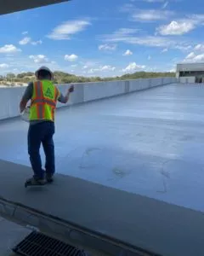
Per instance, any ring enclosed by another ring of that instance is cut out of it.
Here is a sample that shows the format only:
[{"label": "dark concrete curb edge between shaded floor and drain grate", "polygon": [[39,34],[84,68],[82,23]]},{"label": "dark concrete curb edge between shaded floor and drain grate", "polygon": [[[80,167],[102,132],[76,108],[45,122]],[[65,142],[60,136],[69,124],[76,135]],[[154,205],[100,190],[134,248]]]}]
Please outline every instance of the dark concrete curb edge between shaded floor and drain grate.
[{"label": "dark concrete curb edge between shaded floor and drain grate", "polygon": [[[111,238],[102,237],[83,230],[74,224],[67,224],[41,212],[6,201],[0,198],[0,214],[21,221],[31,230],[41,230],[49,236],[58,237],[69,242],[75,247],[81,247],[94,255],[122,255],[122,256],[161,256],[156,253],[146,253],[144,250],[133,248],[113,241]],[[96,254],[95,254],[96,253]]]}]

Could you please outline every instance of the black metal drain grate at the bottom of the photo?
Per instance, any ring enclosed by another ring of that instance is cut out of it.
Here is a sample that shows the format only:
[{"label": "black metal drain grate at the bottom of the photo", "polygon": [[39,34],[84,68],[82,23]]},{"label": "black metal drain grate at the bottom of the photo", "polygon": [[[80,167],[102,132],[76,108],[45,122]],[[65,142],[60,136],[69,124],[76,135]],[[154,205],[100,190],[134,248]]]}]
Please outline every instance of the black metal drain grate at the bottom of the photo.
[{"label": "black metal drain grate at the bottom of the photo", "polygon": [[13,251],[22,256],[87,256],[83,250],[37,231],[32,231]]}]

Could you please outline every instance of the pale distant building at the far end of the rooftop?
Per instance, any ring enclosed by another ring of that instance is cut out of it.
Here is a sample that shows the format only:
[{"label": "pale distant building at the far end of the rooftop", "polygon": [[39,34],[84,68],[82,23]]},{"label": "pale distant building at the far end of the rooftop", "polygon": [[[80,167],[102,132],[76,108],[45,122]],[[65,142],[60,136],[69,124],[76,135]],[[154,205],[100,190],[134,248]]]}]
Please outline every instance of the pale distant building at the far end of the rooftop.
[{"label": "pale distant building at the far end of the rooftop", "polygon": [[178,64],[176,77],[180,83],[204,83],[204,63]]}]

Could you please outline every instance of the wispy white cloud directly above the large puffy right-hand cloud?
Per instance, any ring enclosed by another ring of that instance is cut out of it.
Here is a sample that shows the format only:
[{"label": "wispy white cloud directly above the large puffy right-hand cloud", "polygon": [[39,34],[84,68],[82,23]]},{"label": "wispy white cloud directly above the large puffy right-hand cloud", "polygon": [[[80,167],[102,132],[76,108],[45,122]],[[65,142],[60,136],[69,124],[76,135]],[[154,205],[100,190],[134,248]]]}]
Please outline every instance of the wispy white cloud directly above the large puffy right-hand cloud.
[{"label": "wispy white cloud directly above the large puffy right-hand cloud", "polygon": [[132,18],[135,21],[167,20],[173,12],[159,9],[136,9]]}]

